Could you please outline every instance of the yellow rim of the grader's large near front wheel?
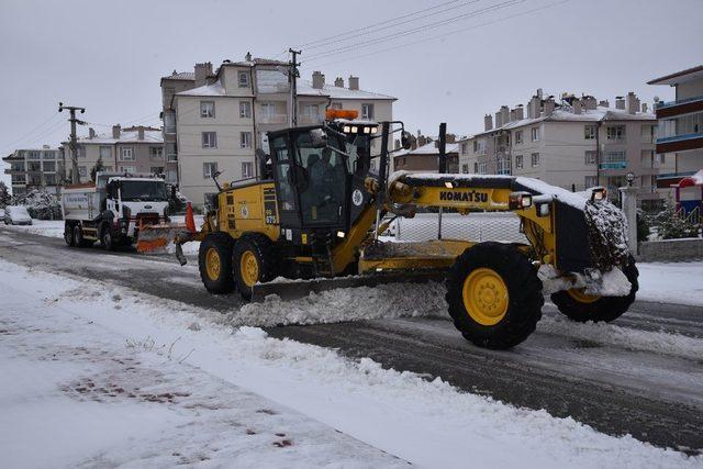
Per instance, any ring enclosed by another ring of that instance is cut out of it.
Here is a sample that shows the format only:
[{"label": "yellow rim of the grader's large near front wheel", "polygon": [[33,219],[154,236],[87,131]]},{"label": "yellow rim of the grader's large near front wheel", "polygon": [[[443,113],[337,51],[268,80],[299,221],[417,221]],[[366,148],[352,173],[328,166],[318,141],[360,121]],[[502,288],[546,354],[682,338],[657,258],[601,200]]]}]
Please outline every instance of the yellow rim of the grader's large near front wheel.
[{"label": "yellow rim of the grader's large near front wheel", "polygon": [[493,269],[481,267],[469,273],[461,293],[467,313],[481,325],[495,325],[507,313],[507,287]]}]

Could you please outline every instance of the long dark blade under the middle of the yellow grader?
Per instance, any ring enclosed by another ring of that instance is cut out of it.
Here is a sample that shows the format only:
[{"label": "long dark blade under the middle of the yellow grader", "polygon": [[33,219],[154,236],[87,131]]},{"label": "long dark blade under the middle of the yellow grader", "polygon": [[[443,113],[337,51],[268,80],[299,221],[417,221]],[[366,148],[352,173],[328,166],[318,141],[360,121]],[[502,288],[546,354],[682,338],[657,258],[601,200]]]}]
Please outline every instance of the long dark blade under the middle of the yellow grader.
[{"label": "long dark blade under the middle of the yellow grader", "polygon": [[445,270],[422,270],[416,272],[382,272],[330,279],[274,281],[255,284],[252,289],[252,301],[263,302],[266,297],[270,294],[276,294],[283,301],[290,301],[305,298],[313,292],[321,293],[339,288],[376,287],[384,283],[440,282],[444,281],[445,276]]}]

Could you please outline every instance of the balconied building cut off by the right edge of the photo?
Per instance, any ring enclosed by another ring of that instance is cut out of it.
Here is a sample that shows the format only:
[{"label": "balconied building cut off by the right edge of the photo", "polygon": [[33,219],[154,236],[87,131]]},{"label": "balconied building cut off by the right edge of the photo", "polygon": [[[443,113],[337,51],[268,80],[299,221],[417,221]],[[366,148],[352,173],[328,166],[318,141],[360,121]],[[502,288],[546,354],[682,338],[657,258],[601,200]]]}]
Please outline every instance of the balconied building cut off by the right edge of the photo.
[{"label": "balconied building cut off by the right edge of the photo", "polygon": [[676,99],[655,104],[658,135],[657,153],[669,155],[674,164],[661,172],[657,186],[673,188],[677,202],[687,211],[703,202],[703,187],[691,178],[703,169],[703,65],[655,78],[648,85],[668,85]]}]

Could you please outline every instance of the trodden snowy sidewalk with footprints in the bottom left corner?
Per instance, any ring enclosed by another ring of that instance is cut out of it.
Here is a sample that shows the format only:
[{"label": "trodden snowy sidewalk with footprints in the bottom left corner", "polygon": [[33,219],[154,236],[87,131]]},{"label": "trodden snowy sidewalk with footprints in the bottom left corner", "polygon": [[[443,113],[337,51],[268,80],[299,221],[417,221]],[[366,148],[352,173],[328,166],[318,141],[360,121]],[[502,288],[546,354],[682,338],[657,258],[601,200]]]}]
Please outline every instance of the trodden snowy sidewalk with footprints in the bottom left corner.
[{"label": "trodden snowy sidewalk with footprints in the bottom left corner", "polygon": [[87,317],[97,308],[97,315],[129,322],[116,294],[110,308],[78,304],[65,300],[72,282],[35,275],[12,287],[7,267],[2,467],[406,466],[189,365],[190,353],[177,344],[125,337]]}]

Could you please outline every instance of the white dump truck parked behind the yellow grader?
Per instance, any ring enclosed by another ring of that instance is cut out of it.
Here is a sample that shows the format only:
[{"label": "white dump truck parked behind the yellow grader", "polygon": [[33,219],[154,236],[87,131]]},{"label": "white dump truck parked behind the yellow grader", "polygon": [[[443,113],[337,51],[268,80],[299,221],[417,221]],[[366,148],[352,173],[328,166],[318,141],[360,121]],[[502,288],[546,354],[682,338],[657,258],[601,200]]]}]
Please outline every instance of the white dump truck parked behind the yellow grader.
[{"label": "white dump truck parked behind the yellow grader", "polygon": [[133,244],[143,226],[168,222],[168,193],[153,175],[98,172],[94,183],[63,188],[62,211],[67,245],[100,241],[112,250]]}]

